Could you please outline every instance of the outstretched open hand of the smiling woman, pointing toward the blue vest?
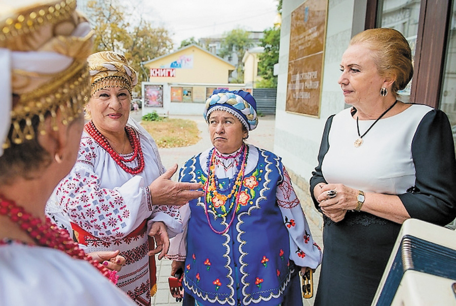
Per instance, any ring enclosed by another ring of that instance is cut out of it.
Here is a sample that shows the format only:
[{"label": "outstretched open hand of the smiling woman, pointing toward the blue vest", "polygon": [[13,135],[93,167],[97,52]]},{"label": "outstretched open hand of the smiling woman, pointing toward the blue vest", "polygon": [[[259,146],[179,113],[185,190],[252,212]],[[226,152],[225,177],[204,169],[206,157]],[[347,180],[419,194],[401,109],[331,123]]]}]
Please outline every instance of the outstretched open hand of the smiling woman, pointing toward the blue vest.
[{"label": "outstretched open hand of the smiling woman, pointing toward the blue vest", "polygon": [[176,173],[177,164],[160,175],[150,185],[153,205],[184,205],[190,200],[204,196],[203,185],[200,183],[181,183],[170,178]]}]

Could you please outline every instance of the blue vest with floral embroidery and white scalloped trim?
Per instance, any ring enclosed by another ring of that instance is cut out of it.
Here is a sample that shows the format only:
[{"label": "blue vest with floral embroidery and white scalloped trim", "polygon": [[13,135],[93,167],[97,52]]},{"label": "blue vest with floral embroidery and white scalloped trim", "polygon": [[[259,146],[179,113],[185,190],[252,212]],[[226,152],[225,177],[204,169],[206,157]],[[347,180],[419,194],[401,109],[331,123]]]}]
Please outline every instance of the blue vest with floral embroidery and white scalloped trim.
[{"label": "blue vest with floral embroidery and white scalloped trim", "polygon": [[[289,236],[276,200],[277,187],[283,180],[282,169],[279,157],[259,150],[255,169],[246,173],[242,181],[235,214],[237,203],[231,210],[227,203],[224,211],[209,204],[206,214],[203,197],[189,202],[191,217],[183,286],[199,302],[228,305],[238,301],[245,305],[282,302],[282,293],[293,270],[288,259]],[[206,180],[199,156],[187,161],[181,170],[182,182],[204,184]],[[227,196],[230,191],[219,193]],[[214,232],[223,232],[232,218],[226,233]]]}]

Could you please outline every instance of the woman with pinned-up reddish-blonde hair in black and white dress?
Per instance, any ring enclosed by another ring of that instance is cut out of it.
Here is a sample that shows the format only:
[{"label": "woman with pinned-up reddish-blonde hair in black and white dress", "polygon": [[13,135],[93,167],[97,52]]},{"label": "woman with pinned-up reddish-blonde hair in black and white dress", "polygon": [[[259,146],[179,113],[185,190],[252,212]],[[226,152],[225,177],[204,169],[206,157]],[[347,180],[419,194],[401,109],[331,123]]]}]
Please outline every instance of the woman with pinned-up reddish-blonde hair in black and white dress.
[{"label": "woman with pinned-up reddish-blonde hair in black and white dress", "polygon": [[456,217],[456,160],[445,113],[397,100],[413,75],[399,31],[355,35],[340,70],[353,107],[327,120],[310,181],[324,218],[315,305],[370,305],[401,223]]}]

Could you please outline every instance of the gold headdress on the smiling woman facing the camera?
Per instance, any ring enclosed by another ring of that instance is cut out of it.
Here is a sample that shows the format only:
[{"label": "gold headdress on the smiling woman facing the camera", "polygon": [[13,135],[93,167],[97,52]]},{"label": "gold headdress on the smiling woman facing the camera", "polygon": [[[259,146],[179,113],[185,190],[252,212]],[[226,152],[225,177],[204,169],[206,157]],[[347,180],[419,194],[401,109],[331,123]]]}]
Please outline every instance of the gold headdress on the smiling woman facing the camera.
[{"label": "gold headdress on the smiling woman facing the camera", "polygon": [[136,71],[128,65],[122,54],[112,51],[101,51],[87,59],[91,75],[91,95],[102,88],[121,87],[131,95],[132,87],[138,84]]}]

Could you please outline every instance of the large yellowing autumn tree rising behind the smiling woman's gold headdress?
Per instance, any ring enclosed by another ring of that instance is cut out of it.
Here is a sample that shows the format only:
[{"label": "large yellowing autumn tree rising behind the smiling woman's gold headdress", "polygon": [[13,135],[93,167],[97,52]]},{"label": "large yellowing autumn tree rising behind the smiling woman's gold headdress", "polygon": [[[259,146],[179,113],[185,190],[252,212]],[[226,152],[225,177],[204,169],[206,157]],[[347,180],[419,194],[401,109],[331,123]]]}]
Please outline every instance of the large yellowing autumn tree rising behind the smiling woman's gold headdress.
[{"label": "large yellowing autumn tree rising behind the smiling woman's gold headdress", "polygon": [[[122,6],[118,0],[92,0],[87,4],[88,18],[95,31],[94,52],[115,51],[125,55],[131,66],[138,72],[141,81],[148,79],[141,62],[169,53],[173,43],[167,29],[153,27],[141,14],[135,14]],[[130,23],[128,20],[134,20]]]}]

